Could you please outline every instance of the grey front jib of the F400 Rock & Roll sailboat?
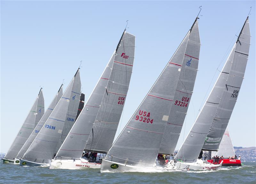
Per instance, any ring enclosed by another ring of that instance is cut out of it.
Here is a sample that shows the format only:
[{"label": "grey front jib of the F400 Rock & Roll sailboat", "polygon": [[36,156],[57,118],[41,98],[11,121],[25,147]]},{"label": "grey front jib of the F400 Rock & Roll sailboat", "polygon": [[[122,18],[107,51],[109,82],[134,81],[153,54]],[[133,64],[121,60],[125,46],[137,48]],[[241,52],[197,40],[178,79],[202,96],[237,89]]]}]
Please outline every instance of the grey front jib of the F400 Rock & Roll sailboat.
[{"label": "grey front jib of the F400 Rock & Roll sailboat", "polygon": [[55,159],[81,158],[108,85],[115,54],[116,51],[112,54],[85,107],[57,152]]}]

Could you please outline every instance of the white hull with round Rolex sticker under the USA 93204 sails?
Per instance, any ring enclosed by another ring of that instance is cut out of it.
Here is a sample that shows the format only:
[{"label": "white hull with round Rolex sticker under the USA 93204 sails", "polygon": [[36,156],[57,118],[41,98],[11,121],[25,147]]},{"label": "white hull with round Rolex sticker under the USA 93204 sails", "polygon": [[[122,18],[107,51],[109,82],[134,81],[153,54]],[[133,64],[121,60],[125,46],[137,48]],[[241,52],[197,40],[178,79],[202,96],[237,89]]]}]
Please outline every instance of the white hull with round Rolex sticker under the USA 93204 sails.
[{"label": "white hull with round Rolex sticker under the USA 93204 sails", "polygon": [[172,165],[172,162],[167,166],[152,166],[152,167],[139,167],[130,166],[121,163],[111,162],[108,160],[102,160],[100,172],[101,173],[123,173],[123,172],[143,172],[143,173],[157,173],[157,172],[173,172],[173,171],[187,171],[187,168],[182,168],[177,165]]}]

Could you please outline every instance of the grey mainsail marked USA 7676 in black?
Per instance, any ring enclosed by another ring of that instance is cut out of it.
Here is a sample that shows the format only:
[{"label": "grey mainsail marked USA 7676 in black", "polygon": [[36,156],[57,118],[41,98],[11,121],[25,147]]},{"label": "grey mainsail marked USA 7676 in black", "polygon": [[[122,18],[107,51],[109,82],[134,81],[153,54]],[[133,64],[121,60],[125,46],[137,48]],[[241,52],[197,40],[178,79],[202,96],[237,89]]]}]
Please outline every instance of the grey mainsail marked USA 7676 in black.
[{"label": "grey mainsail marked USA 7676 in black", "polygon": [[250,39],[249,19],[247,17],[235,44],[234,57],[227,83],[204,142],[203,150],[217,151],[219,148],[220,141],[227,128],[244,79],[250,49]]}]

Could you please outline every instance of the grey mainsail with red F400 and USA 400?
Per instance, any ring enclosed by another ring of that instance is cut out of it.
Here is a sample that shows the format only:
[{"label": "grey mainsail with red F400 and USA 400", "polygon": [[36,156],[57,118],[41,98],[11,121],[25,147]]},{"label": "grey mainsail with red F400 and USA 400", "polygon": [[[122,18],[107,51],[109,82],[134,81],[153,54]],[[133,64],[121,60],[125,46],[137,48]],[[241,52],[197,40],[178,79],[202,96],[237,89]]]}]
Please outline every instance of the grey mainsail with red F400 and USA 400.
[{"label": "grey mainsail with red F400 and USA 400", "polygon": [[86,150],[106,153],[116,134],[129,89],[134,60],[135,36],[124,31],[119,41],[112,72],[95,119]]}]

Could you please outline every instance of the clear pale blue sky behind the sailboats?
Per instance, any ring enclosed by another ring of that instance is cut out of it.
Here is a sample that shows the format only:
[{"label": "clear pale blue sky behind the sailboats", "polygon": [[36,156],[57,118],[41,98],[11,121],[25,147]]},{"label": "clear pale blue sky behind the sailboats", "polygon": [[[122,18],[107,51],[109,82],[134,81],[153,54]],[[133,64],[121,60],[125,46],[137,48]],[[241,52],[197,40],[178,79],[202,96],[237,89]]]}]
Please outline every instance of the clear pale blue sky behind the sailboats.
[{"label": "clear pale blue sky behind the sailboats", "polygon": [[204,96],[207,98],[219,75],[216,69],[218,66],[222,69],[251,6],[249,59],[228,127],[234,146],[255,146],[255,1],[1,1],[0,4],[1,152],[11,145],[40,86],[48,107],[62,79],[65,89],[81,60],[82,88],[88,98],[129,20],[127,32],[136,36],[136,48],[118,128],[121,132],[192,26],[199,6],[202,6],[199,71],[176,149],[193,125],[206,100]]}]

